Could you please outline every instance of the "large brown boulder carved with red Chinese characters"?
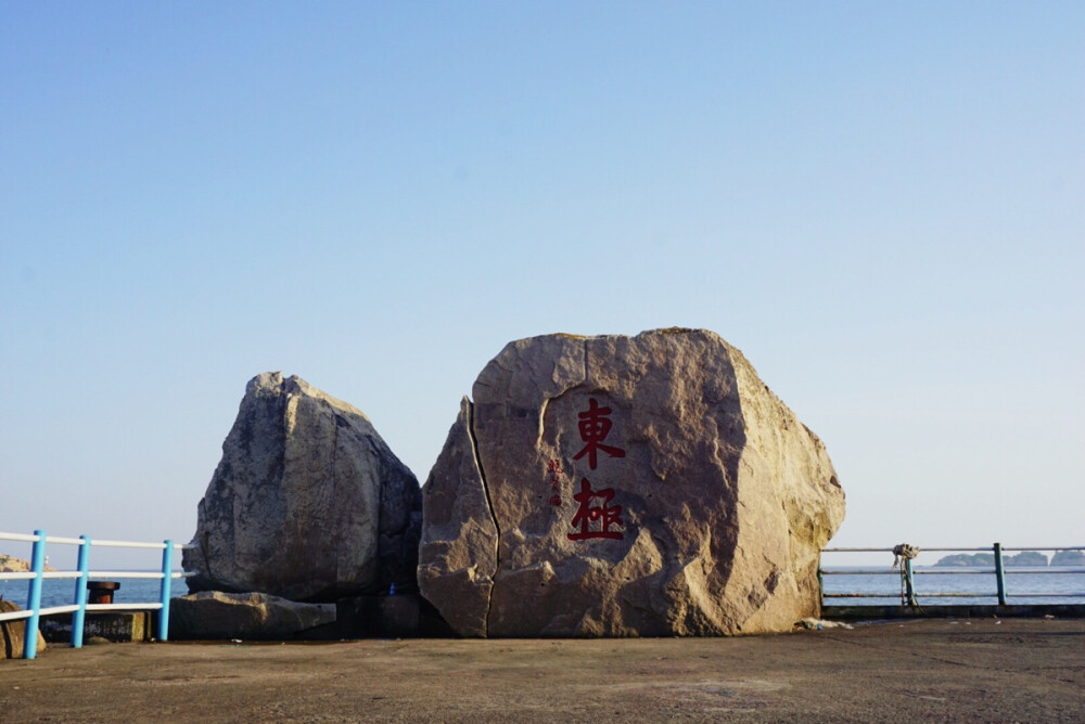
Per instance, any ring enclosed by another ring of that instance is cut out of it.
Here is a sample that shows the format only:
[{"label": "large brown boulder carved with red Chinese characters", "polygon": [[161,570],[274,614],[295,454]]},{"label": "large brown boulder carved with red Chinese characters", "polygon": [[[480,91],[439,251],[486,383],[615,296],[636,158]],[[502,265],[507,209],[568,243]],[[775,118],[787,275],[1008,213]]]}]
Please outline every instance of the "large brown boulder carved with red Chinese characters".
[{"label": "large brown boulder carved with red Chinese characters", "polygon": [[475,382],[423,488],[422,594],[469,636],[790,631],[844,516],[825,445],[705,331],[551,335]]}]

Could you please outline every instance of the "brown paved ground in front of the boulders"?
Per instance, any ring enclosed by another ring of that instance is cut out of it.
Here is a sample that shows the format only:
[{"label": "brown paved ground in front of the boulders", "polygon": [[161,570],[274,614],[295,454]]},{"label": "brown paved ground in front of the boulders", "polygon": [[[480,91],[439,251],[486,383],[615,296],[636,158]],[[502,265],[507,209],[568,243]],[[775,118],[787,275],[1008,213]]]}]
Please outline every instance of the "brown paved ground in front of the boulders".
[{"label": "brown paved ground in front of the boulders", "polygon": [[0,661],[0,720],[1085,722],[1085,620],[699,639],[53,647]]}]

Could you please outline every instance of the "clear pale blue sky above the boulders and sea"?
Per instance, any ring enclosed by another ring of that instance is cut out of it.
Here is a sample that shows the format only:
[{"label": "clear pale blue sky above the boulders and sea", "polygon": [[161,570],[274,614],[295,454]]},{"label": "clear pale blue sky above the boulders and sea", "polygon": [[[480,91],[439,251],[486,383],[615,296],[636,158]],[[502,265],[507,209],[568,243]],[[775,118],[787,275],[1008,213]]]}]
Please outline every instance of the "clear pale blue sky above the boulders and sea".
[{"label": "clear pale blue sky above the boulders and sea", "polygon": [[189,540],[259,372],[422,481],[509,340],[678,325],[833,544],[1085,545],[1085,3],[10,0],[0,253],[0,530]]}]

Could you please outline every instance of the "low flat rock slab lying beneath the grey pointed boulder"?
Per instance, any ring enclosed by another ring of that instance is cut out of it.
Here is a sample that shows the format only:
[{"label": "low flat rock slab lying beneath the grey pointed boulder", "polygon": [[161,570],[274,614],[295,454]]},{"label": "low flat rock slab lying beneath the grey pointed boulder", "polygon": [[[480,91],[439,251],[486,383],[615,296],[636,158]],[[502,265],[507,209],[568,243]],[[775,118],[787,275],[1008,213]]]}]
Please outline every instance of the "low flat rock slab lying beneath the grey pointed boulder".
[{"label": "low flat rock slab lying beneath the grey pointed boulder", "polygon": [[335,604],[301,604],[263,593],[202,591],[170,600],[169,637],[279,639],[335,621]]}]

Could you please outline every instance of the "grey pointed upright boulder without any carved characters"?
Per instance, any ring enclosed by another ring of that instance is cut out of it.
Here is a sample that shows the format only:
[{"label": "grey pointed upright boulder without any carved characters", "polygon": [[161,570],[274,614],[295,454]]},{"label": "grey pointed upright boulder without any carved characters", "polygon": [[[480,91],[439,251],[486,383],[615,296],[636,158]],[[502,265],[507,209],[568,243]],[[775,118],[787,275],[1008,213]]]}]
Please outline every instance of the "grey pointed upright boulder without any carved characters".
[{"label": "grey pointed upright boulder without any carved characters", "polygon": [[369,419],[298,377],[254,377],[199,507],[190,591],[293,600],[417,586],[418,480]]}]

